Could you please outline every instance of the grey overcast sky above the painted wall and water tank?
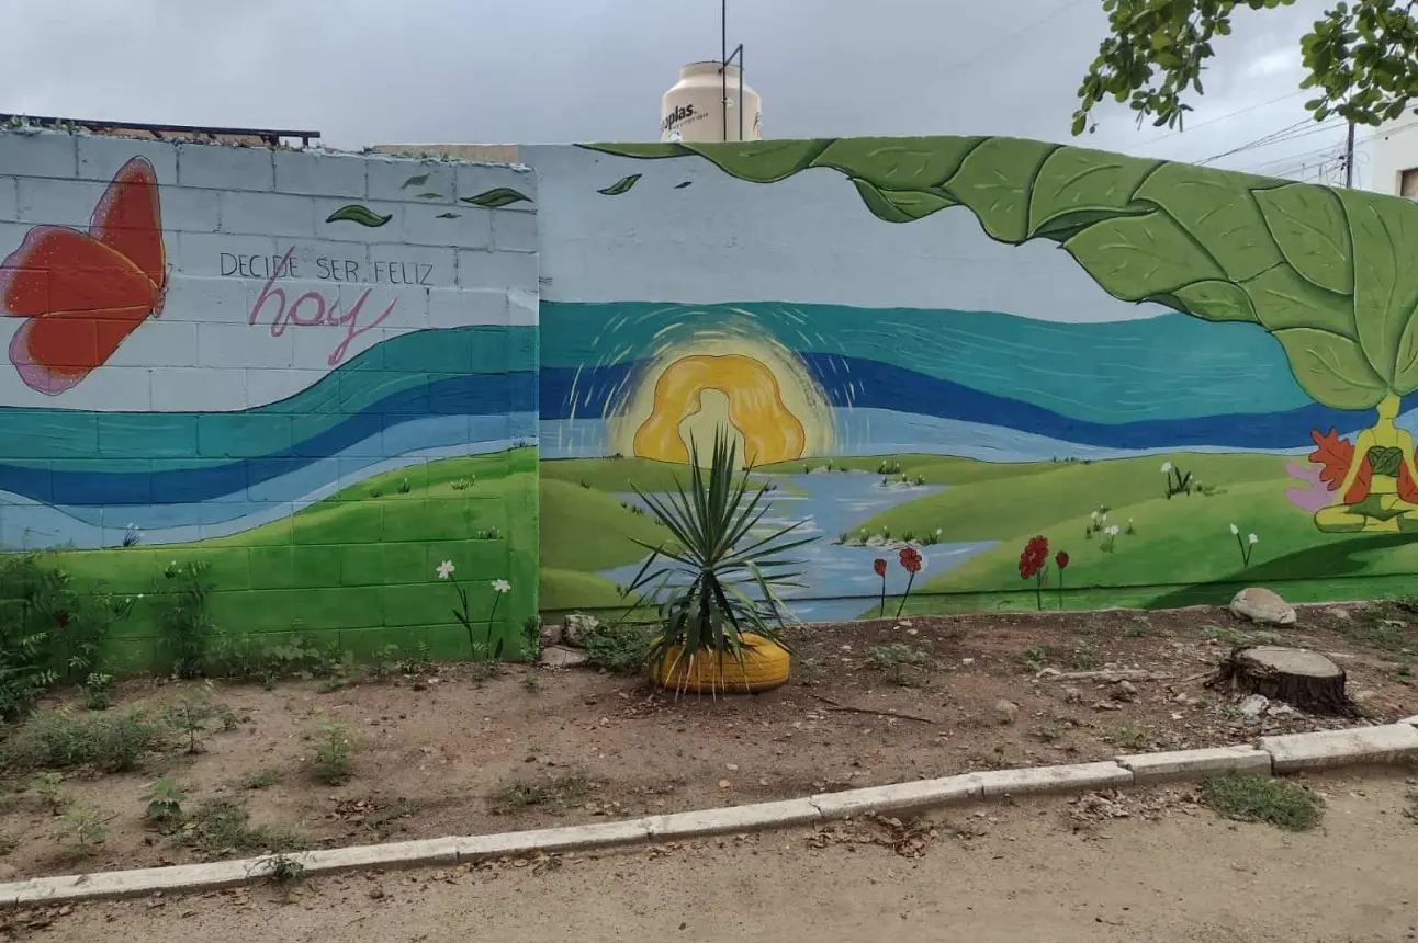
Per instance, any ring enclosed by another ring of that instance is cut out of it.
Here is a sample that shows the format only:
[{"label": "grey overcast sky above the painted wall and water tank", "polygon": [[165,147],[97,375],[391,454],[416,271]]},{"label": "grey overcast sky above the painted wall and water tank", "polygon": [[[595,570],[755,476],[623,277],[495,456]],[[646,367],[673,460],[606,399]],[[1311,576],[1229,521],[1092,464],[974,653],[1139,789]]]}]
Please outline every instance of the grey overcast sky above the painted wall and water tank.
[{"label": "grey overcast sky above the painted wall and water tank", "polygon": [[[1195,161],[1303,122],[1299,37],[1324,6],[1239,10],[1193,130],[1105,110],[1086,143]],[[1106,23],[1100,0],[730,0],[729,44],[767,137],[1066,140]],[[0,112],[315,129],[349,149],[655,139],[679,65],[718,52],[718,0],[0,0]],[[1215,164],[1334,170],[1343,127],[1286,133]]]}]

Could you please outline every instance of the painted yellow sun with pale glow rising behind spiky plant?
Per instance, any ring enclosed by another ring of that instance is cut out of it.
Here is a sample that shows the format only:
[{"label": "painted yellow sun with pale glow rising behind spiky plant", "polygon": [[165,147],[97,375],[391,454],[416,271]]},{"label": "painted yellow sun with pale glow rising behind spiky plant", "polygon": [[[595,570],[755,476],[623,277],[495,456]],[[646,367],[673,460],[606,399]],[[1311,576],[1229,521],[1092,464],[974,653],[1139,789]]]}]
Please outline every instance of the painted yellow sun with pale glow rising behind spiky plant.
[{"label": "painted yellow sun with pale glow rising behind spiky plant", "polygon": [[825,455],[832,419],[827,399],[790,351],[770,341],[719,336],[666,350],[611,422],[618,450],[659,462],[689,462],[689,445],[727,429],[753,464]]}]

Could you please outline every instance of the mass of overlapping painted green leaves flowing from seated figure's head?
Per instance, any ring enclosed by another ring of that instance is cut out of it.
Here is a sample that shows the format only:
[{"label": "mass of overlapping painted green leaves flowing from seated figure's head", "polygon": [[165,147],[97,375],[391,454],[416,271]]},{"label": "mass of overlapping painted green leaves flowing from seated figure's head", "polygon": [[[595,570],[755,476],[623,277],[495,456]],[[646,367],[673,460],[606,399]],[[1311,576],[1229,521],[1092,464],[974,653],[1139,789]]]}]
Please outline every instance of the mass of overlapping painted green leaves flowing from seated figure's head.
[{"label": "mass of overlapping painted green leaves flowing from seated figure's head", "polygon": [[757,183],[830,167],[889,222],[960,204],[1001,242],[1059,241],[1115,297],[1262,326],[1320,404],[1364,409],[1418,389],[1408,201],[1005,137],[591,147],[699,153]]}]

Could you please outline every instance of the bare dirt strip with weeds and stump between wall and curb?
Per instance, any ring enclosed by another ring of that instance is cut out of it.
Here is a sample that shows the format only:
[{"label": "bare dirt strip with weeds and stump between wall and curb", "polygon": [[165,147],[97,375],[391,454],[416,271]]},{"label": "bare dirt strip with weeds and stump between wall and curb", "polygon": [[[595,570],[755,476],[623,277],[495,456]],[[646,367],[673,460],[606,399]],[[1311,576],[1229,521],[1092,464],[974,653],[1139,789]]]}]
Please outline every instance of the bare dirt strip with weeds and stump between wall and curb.
[{"label": "bare dirt strip with weeds and stump between wall and curb", "polygon": [[[1275,634],[1330,654],[1367,716],[1385,722],[1418,712],[1409,654],[1418,631],[1404,619],[1418,624],[1398,610],[1314,607]],[[221,857],[221,848],[182,845],[145,825],[142,797],[157,776],[184,789],[187,811],[230,797],[255,825],[332,847],[593,823],[1361,722],[1282,705],[1248,716],[1241,698],[1205,688],[1239,631],[1256,634],[1210,609],[813,626],[795,633],[791,684],[719,701],[676,701],[634,677],[526,667],[481,682],[468,665],[434,665],[423,677],[336,690],[319,681],[271,691],[217,684],[213,701],[241,721],[208,735],[206,752],[155,753],[128,775],[68,775],[64,799],[113,816],[95,854],[75,857],[57,842],[62,818],[28,777],[13,780],[0,813],[0,879]],[[898,678],[871,664],[879,644],[916,646],[932,664]],[[1049,674],[1096,668],[1140,675],[1117,684]],[[130,681],[113,709],[173,704],[186,690]],[[311,777],[312,733],[326,722],[354,738],[353,777],[336,787]]]}]

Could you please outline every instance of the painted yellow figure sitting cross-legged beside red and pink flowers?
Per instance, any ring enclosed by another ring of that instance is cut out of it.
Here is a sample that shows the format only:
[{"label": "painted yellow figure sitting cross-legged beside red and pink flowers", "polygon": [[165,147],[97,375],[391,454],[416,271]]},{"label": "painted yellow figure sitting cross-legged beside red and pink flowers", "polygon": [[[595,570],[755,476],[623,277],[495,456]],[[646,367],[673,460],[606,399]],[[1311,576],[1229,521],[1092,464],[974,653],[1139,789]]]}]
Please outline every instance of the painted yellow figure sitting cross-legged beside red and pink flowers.
[{"label": "painted yellow figure sitting cross-legged beside red and pink flowers", "polygon": [[[1414,466],[1414,439],[1394,425],[1398,416],[1398,396],[1387,396],[1378,404],[1378,422],[1358,433],[1349,446],[1334,432],[1322,439],[1320,449],[1310,456],[1326,464],[1323,477],[1330,490],[1343,496],[1334,504],[1314,514],[1314,524],[1332,534],[1358,531],[1418,532],[1418,467]],[[1322,459],[1316,456],[1323,455]],[[1343,480],[1339,480],[1343,460]]]}]

